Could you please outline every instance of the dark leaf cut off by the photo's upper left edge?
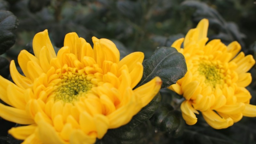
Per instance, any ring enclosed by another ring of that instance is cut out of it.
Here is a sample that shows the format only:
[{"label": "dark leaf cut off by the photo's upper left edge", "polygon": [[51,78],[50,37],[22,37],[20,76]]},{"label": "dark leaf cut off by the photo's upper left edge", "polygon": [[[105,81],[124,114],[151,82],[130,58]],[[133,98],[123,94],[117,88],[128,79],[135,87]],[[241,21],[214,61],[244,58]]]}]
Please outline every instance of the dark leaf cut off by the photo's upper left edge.
[{"label": "dark leaf cut off by the photo's upper left edge", "polygon": [[18,19],[12,12],[0,10],[0,55],[15,43],[15,34],[12,31],[17,26]]}]

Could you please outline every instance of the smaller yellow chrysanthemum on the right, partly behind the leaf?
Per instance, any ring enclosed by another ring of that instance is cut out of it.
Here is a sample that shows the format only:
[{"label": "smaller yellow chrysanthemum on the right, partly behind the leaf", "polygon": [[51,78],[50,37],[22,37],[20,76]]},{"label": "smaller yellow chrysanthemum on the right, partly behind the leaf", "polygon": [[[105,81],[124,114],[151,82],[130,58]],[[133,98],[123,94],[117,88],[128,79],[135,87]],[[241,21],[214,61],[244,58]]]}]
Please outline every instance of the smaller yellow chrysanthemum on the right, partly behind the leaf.
[{"label": "smaller yellow chrysanthemum on the right, partly behind the leaf", "polygon": [[201,20],[185,39],[172,44],[185,56],[188,72],[169,88],[185,98],[181,111],[187,124],[196,124],[194,113],[201,111],[209,125],[222,129],[243,116],[256,116],[256,106],[249,104],[251,94],[245,89],[252,81],[247,71],[255,60],[243,52],[237,55],[241,50],[237,42],[226,46],[214,39],[206,44],[208,25],[207,19]]}]

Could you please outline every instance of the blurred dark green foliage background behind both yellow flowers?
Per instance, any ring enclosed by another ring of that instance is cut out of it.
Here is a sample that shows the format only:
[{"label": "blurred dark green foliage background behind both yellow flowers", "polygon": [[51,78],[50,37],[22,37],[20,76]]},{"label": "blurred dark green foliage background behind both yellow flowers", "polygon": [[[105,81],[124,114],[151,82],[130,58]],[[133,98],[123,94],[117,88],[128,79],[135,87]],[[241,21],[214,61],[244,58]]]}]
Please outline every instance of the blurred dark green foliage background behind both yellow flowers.
[{"label": "blurred dark green foliage background behind both yellow flowers", "polygon": [[[238,41],[242,51],[256,57],[253,0],[0,0],[0,75],[11,80],[9,61],[17,62],[22,49],[33,53],[33,36],[44,29],[48,29],[56,51],[67,33],[76,32],[89,43],[92,36],[113,40],[121,57],[141,51],[148,59],[156,47],[171,46],[202,18],[209,19],[210,40],[218,38],[225,44]],[[253,81],[248,89],[251,103],[256,104],[255,67],[251,73]],[[124,127],[129,131],[121,135],[111,130],[97,143],[256,143],[256,118],[244,117],[227,129],[215,130],[198,116],[197,124],[188,126],[179,110],[182,97],[168,89],[160,94],[151,105],[161,106],[150,120],[136,128]],[[0,143],[20,143],[7,134],[14,123],[0,118],[0,125]]]}]

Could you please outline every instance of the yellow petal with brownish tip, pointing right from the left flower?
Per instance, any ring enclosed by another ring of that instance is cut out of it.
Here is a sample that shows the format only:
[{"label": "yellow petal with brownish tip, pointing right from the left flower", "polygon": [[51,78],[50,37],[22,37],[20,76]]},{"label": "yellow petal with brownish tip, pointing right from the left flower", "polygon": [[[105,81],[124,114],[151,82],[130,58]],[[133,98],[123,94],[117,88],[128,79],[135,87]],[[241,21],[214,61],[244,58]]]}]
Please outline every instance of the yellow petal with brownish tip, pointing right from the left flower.
[{"label": "yellow petal with brownish tip, pointing right from the left flower", "polygon": [[159,92],[162,85],[160,77],[156,76],[154,79],[146,84],[133,90],[134,94],[141,99],[142,107],[145,107]]}]

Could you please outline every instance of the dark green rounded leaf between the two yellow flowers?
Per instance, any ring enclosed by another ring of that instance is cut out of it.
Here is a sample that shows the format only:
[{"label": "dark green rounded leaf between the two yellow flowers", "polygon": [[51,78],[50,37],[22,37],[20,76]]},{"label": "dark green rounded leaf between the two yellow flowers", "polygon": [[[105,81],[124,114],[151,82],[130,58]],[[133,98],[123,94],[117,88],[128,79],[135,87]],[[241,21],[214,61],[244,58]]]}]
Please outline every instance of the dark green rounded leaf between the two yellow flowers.
[{"label": "dark green rounded leaf between the two yellow flowers", "polygon": [[172,47],[158,47],[156,51],[143,61],[143,76],[138,86],[149,82],[156,76],[162,81],[162,87],[175,84],[187,72],[184,56]]}]

